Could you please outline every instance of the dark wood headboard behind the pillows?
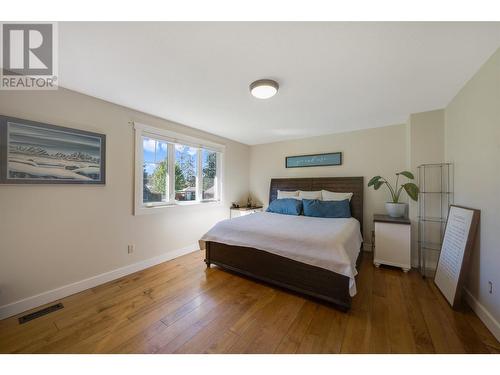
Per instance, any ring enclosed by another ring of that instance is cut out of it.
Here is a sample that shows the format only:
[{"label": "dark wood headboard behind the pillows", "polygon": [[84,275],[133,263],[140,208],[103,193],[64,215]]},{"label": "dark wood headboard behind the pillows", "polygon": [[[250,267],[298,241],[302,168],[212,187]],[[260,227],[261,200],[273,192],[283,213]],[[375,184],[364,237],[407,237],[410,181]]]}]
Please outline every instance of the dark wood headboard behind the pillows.
[{"label": "dark wood headboard behind the pillows", "polygon": [[329,190],[338,193],[353,193],[351,215],[363,229],[363,177],[313,177],[313,178],[273,178],[269,190],[269,203],[278,196],[278,190]]}]

